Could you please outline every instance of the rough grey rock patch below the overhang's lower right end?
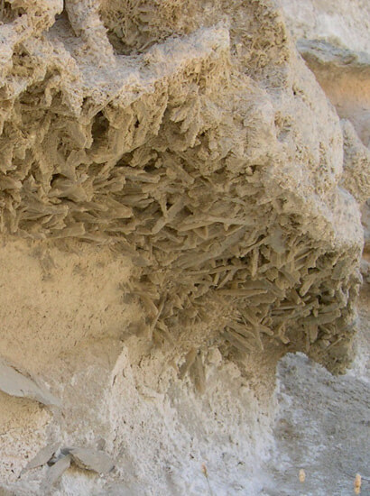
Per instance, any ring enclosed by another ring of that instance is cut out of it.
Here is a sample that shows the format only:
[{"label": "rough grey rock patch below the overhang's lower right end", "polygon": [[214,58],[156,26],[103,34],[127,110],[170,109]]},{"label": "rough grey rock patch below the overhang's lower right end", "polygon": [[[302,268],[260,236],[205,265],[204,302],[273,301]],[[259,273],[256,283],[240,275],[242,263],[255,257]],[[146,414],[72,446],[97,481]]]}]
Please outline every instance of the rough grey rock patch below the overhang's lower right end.
[{"label": "rough grey rock patch below the overhang's lower right end", "polygon": [[[273,482],[267,493],[351,494],[356,473],[363,493],[370,490],[368,470],[369,382],[355,375],[335,378],[303,356],[279,364],[279,414],[274,436]],[[298,478],[304,467],[306,480]]]}]

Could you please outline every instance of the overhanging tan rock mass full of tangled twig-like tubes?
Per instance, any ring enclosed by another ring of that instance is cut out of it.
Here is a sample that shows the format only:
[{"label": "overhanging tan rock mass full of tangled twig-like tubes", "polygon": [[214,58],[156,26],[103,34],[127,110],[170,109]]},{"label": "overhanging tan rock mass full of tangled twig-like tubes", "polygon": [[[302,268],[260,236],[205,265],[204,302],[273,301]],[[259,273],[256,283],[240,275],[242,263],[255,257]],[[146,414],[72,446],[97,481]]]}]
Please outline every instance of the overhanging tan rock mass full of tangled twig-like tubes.
[{"label": "overhanging tan rock mass full of tangled twig-like tubes", "polygon": [[128,332],[169,343],[199,389],[209,344],[343,370],[359,211],[338,116],[273,2],[168,1],[162,29],[157,2],[65,4],[0,4],[2,232],[130,254]]}]

